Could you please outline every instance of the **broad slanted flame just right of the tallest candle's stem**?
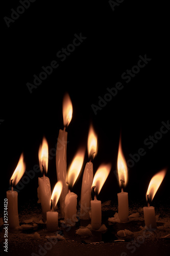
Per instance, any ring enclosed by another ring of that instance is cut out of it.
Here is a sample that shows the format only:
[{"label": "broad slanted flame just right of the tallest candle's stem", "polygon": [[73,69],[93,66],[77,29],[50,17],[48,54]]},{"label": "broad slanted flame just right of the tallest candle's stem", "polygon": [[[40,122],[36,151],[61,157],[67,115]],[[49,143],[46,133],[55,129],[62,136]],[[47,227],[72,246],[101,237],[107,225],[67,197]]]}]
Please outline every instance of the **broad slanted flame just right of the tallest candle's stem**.
[{"label": "broad slanted flame just right of the tallest candle's stem", "polygon": [[71,187],[75,184],[75,182],[80,174],[80,171],[81,171],[81,168],[83,165],[83,161],[84,161],[84,155],[85,155],[85,151],[80,150],[76,154],[74,160],[72,161],[72,163],[69,167],[67,181]]}]

